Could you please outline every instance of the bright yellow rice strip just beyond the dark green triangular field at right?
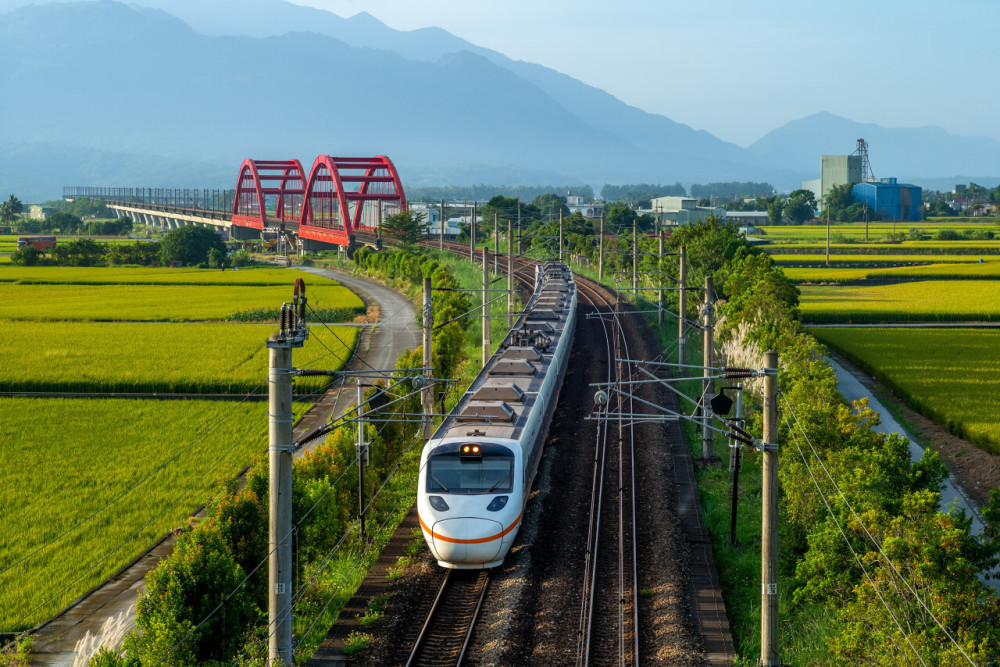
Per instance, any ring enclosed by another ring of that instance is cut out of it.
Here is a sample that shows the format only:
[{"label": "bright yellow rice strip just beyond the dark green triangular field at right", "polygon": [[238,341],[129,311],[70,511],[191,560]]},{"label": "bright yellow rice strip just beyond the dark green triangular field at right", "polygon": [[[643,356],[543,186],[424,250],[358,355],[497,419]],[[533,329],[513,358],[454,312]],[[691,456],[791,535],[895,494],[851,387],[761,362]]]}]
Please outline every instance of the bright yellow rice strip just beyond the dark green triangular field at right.
[{"label": "bright yellow rice strip just beyond the dark green triangular field at right", "polygon": [[1000,282],[923,280],[893,285],[806,285],[804,322],[980,322],[1000,320]]}]

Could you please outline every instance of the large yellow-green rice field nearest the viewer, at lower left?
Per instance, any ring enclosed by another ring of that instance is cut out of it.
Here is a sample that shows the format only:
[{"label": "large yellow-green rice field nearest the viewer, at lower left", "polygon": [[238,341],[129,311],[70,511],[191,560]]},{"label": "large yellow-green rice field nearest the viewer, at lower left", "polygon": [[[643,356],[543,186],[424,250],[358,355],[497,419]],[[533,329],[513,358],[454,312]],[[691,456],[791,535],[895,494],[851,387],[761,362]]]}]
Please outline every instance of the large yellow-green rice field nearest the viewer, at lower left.
[{"label": "large yellow-green rice field nearest the viewer, at lower left", "polygon": [[0,632],[51,617],[267,448],[266,402],[0,398],[0,424]]}]

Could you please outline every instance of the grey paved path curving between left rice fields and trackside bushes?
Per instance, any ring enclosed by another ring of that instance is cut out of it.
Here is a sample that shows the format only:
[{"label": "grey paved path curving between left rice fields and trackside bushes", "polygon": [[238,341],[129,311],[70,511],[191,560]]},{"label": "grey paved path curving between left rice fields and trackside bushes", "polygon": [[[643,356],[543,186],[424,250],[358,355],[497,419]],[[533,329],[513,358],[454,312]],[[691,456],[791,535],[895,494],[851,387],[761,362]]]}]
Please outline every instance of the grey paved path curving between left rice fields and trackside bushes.
[{"label": "grey paved path curving between left rice fields and trackside bushes", "polygon": [[[403,295],[383,285],[340,272],[305,267],[301,270],[341,282],[358,294],[366,305],[377,305],[380,310],[378,323],[373,327],[366,327],[358,339],[355,356],[348,363],[349,369],[392,368],[401,352],[420,344],[416,310]],[[321,325],[311,326],[315,331]],[[346,412],[354,404],[353,399],[357,396],[355,392],[351,386],[344,391],[337,388],[328,391],[299,420],[294,437],[299,438],[316,426],[326,423],[334,414],[339,416]],[[320,442],[322,440],[317,440],[312,446]],[[296,452],[296,455],[301,455],[308,449],[307,446]],[[131,564],[41,626],[34,633],[30,664],[39,667],[72,667],[76,644],[88,631],[98,634],[108,619],[120,614],[125,614],[128,622],[134,623],[133,605],[137,593],[145,584],[146,574],[171,553],[173,544],[174,536],[164,537]]]}]

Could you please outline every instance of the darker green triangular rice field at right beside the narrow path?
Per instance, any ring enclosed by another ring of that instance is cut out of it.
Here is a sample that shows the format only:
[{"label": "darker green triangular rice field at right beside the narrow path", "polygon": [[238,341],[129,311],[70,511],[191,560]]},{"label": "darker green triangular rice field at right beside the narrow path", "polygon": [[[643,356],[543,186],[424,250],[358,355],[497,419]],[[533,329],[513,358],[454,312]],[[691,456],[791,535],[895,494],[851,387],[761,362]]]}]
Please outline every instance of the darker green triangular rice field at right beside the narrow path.
[{"label": "darker green triangular rice field at right beside the narrow path", "polygon": [[1000,331],[813,328],[916,410],[1000,454]]}]

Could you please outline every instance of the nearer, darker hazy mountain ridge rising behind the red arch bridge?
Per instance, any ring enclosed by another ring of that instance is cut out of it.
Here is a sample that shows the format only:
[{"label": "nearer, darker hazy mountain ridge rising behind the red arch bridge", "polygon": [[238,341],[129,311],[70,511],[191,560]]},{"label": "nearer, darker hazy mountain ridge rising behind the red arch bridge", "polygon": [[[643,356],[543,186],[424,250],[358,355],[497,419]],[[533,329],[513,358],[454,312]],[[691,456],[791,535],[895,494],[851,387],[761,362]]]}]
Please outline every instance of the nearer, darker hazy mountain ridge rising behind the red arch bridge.
[{"label": "nearer, darker hazy mountain ridge rising behind the red arch bridge", "polygon": [[[388,154],[408,182],[778,174],[724,154],[638,148],[469,51],[428,61],[316,33],[209,37],[165,12],[104,0],[0,16],[0,62],[0,82],[16,91],[0,99],[0,142],[231,164],[234,180],[245,157],[309,164],[326,152]],[[17,172],[10,153],[0,159]]]}]

